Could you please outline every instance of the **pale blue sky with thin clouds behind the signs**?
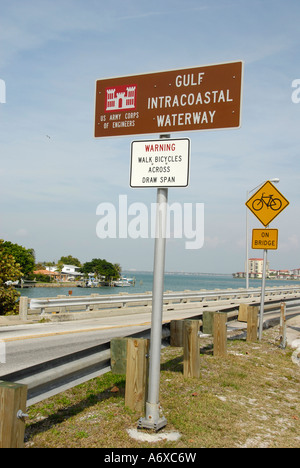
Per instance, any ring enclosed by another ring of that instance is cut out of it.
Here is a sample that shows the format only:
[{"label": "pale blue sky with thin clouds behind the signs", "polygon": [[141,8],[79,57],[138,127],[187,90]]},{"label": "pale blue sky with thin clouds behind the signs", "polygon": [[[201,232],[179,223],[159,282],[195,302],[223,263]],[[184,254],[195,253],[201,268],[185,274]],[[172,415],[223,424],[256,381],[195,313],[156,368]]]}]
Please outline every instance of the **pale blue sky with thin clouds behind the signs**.
[{"label": "pale blue sky with thin clouds behind the signs", "polygon": [[204,203],[205,242],[168,240],[166,270],[243,270],[246,193],[273,177],[290,205],[270,225],[270,267],[300,268],[298,0],[0,0],[0,12],[1,238],[39,261],[152,270],[152,239],[96,235],[100,203],[150,206],[156,191],[129,187],[130,144],[144,136],[94,138],[95,81],[243,60],[241,128],[172,135],[191,139],[191,177],[169,201]]}]

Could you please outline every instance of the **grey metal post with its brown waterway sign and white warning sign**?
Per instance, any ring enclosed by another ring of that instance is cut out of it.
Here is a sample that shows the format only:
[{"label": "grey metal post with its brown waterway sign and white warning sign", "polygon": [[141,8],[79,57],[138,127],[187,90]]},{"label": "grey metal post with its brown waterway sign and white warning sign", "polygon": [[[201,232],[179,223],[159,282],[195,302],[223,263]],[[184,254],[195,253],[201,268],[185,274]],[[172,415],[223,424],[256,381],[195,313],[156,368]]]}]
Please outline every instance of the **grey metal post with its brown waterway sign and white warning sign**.
[{"label": "grey metal post with its brown waterway sign and white warning sign", "polygon": [[[241,61],[97,80],[94,136],[170,138],[172,132],[239,128],[242,82]],[[162,149],[146,143],[132,145],[130,179],[131,187],[157,187],[149,388],[139,427],[159,430],[167,423],[159,384],[168,187],[188,186],[190,145],[188,139]]]}]

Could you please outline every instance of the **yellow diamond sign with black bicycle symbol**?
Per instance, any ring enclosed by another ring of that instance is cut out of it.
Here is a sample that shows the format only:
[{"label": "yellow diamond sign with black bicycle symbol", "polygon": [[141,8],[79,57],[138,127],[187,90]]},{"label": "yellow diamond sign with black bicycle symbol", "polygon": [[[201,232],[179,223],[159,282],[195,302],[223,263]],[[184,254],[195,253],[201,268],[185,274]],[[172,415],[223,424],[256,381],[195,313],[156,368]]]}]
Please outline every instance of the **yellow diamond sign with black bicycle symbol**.
[{"label": "yellow diamond sign with black bicycle symbol", "polygon": [[265,227],[288,205],[289,201],[270,181],[265,182],[246,202],[249,210],[252,211]]}]

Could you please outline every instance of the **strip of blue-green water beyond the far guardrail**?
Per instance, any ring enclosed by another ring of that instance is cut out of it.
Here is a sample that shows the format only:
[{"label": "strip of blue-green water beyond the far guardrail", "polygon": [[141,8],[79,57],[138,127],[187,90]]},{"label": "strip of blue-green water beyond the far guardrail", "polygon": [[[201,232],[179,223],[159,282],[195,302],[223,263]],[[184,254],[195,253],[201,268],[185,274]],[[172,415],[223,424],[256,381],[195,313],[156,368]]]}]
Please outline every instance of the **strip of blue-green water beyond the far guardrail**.
[{"label": "strip of blue-green water beyond the far guardrail", "polygon": [[[64,288],[29,288],[18,289],[22,296],[30,298],[38,297],[56,297],[58,295],[68,295],[72,291],[72,296],[89,296],[90,294],[112,295],[122,292],[126,293],[144,293],[146,291],[152,292],[152,272],[123,272],[126,277],[135,278],[135,286],[124,288],[78,288],[78,287],[64,287]],[[260,288],[261,279],[250,279],[250,287]],[[272,286],[297,286],[298,281],[289,280],[267,280],[266,287]],[[245,288],[246,280],[243,278],[233,278],[232,275],[209,275],[197,273],[166,273],[164,281],[165,291],[199,291],[200,289],[238,289]]]}]

